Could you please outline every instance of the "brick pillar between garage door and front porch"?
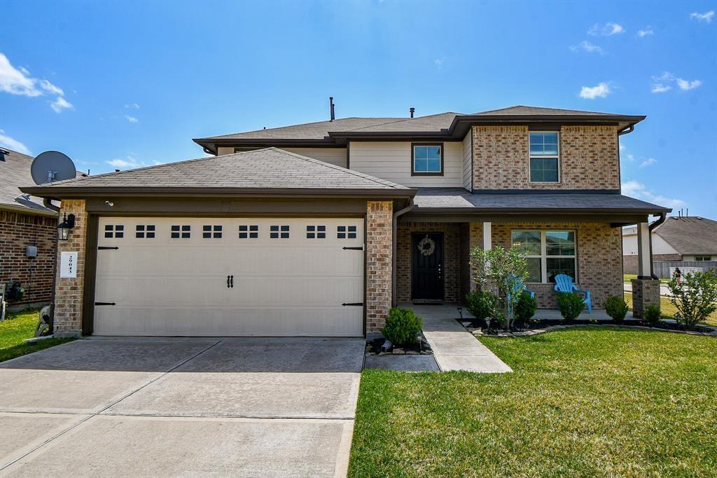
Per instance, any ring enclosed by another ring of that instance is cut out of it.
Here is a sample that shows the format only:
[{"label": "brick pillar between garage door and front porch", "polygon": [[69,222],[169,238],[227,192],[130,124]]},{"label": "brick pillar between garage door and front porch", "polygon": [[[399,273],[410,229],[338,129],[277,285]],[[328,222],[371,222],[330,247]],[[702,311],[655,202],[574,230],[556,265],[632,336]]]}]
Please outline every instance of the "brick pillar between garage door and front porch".
[{"label": "brick pillar between garage door and front porch", "polygon": [[391,309],[393,203],[366,202],[366,332],[384,327]]}]

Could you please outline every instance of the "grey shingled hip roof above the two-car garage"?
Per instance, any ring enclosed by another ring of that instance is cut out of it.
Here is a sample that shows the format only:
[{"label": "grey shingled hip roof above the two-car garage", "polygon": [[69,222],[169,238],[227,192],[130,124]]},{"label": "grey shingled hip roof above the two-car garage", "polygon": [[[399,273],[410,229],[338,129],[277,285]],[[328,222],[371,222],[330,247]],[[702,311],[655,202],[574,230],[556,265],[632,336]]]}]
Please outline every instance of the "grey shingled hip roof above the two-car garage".
[{"label": "grey shingled hip roof above the two-car garage", "polygon": [[414,189],[277,148],[189,159],[23,188],[42,197],[127,195],[386,195]]}]

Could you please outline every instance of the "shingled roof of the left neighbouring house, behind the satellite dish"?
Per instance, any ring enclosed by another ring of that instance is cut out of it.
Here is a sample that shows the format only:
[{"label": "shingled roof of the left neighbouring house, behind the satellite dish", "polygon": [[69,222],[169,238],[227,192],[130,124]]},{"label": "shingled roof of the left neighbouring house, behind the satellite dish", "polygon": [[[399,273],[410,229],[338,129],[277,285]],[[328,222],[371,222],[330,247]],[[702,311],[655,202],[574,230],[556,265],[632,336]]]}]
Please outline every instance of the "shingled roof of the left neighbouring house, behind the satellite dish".
[{"label": "shingled roof of the left neighbouring house, behind the satellite dish", "polygon": [[33,158],[10,149],[5,161],[0,161],[0,209],[25,212],[29,214],[57,215],[57,212],[44,207],[42,199],[23,195],[20,187],[32,186],[30,175]]}]

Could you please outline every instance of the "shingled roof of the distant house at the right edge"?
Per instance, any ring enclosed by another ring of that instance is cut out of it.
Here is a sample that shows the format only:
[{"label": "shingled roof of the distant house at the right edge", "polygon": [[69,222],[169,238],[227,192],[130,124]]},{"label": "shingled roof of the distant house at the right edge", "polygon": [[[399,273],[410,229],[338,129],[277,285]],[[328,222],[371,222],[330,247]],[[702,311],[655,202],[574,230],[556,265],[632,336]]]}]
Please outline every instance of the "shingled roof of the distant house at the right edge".
[{"label": "shingled roof of the distant house at the right edge", "polygon": [[717,221],[705,217],[670,216],[653,231],[680,254],[717,254]]}]

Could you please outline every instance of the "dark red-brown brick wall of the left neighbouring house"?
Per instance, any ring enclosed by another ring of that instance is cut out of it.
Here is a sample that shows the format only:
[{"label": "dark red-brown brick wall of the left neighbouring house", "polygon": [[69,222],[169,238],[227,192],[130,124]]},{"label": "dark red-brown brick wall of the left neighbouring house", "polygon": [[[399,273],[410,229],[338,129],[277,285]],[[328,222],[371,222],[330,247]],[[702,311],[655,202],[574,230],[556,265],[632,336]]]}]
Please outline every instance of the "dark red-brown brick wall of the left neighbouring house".
[{"label": "dark red-brown brick wall of the left neighbouring house", "polygon": [[[8,306],[48,304],[52,300],[56,237],[57,217],[0,211],[0,283],[20,281],[25,289],[24,297],[8,300]],[[25,256],[28,245],[37,246],[37,257]]]}]

